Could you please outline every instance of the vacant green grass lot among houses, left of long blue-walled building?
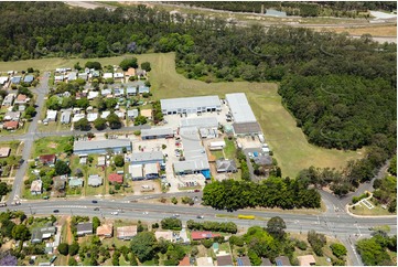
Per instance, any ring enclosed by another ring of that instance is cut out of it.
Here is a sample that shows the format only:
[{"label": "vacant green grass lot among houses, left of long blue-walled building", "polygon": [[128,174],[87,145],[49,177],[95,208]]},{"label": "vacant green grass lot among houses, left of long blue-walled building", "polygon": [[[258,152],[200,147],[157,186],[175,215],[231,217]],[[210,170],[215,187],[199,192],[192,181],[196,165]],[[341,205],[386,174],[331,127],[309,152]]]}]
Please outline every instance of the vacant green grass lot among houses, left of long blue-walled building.
[{"label": "vacant green grass lot among houses, left of long blue-walled building", "polygon": [[44,137],[33,143],[32,157],[47,153],[63,153],[69,146],[71,137]]}]

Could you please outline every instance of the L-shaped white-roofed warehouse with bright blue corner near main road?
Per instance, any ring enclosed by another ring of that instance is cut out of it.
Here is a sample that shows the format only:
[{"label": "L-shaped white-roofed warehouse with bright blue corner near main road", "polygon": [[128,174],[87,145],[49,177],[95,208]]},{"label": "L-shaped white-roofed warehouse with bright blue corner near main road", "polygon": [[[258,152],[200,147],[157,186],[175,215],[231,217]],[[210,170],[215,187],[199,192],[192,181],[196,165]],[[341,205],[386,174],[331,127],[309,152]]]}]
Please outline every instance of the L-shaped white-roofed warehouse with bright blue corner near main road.
[{"label": "L-shaped white-roofed warehouse with bright blue corner near main road", "polygon": [[175,174],[202,173],[206,179],[211,178],[207,154],[202,146],[196,127],[180,129],[180,136],[184,148],[184,161],[174,162]]}]

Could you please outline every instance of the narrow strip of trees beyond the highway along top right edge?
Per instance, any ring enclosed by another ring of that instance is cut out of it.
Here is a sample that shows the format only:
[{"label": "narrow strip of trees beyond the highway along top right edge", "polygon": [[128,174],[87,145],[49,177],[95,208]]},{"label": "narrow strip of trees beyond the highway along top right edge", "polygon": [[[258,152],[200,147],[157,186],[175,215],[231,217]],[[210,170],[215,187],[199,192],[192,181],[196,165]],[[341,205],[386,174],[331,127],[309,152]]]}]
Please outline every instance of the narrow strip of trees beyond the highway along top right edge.
[{"label": "narrow strip of trees beyond the highway along top right edge", "polygon": [[356,18],[364,17],[361,12],[367,10],[385,10],[391,12],[397,9],[397,2],[394,1],[189,1],[189,2],[172,2],[173,4],[184,4],[191,7],[201,7],[216,10],[228,10],[233,12],[252,12],[261,13],[261,7],[263,9],[277,9],[279,11],[286,11],[288,15],[301,15],[301,17],[346,17]]}]

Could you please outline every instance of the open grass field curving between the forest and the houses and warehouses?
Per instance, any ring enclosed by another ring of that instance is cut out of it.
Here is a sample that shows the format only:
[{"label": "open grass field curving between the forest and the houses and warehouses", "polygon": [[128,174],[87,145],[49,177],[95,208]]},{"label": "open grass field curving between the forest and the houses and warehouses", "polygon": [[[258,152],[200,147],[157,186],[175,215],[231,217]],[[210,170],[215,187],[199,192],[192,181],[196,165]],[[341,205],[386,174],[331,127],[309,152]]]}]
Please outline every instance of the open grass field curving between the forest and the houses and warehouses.
[{"label": "open grass field curving between the forest and the houses and warehouses", "polygon": [[[303,168],[310,165],[341,168],[347,160],[357,159],[362,151],[340,151],[324,149],[310,145],[300,128],[295,127],[294,118],[281,105],[278,85],[275,83],[204,83],[187,79],[175,72],[174,53],[135,55],[139,63],[150,62],[152,71],[149,74],[152,84],[153,99],[203,96],[217,94],[224,97],[226,93],[244,92],[259,120],[267,142],[275,152],[283,175],[295,177]],[[103,65],[119,64],[125,56],[89,58],[99,61]],[[74,63],[85,64],[86,58],[44,58],[20,62],[0,63],[0,71],[25,70],[26,66],[51,71],[61,66],[73,66]]]}]

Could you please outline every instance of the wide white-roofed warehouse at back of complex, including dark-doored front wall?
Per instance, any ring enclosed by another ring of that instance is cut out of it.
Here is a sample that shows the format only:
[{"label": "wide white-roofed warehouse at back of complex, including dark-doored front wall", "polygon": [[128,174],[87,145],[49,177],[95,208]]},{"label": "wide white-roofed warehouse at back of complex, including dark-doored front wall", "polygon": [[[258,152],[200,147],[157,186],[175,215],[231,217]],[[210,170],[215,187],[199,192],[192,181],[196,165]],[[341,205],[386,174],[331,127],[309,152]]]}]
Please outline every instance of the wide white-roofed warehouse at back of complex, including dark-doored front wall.
[{"label": "wide white-roofed warehouse at back of complex, including dark-doored front wall", "polygon": [[219,111],[222,109],[218,96],[161,99],[160,105],[163,115],[211,113]]}]

